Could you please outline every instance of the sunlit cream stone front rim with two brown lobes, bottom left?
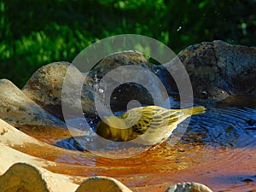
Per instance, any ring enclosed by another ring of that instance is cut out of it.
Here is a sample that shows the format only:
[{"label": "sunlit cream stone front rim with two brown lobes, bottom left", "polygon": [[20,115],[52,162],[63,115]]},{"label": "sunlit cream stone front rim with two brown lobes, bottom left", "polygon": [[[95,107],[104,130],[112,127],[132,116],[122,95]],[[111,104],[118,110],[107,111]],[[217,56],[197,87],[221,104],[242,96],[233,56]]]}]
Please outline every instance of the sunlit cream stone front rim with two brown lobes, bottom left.
[{"label": "sunlit cream stone front rim with two brown lobes, bottom left", "polygon": [[[53,170],[52,167],[56,167],[58,170],[63,165],[29,155],[32,152],[28,151],[31,148],[27,148],[27,146],[32,145],[35,146],[33,153],[37,155],[45,152],[67,155],[81,153],[42,143],[26,136],[26,134],[0,119],[0,192],[73,192],[78,187],[78,191],[87,191],[87,189],[96,189],[92,188],[94,186],[102,189],[102,185],[99,185],[99,183],[104,184],[104,189],[109,189],[105,191],[131,191],[124,184],[108,177],[89,177],[85,180],[87,177],[67,176],[50,172],[47,169]],[[25,148],[25,151],[29,154],[15,149],[17,146]],[[78,183],[82,183],[84,180],[85,182],[79,186]]]}]

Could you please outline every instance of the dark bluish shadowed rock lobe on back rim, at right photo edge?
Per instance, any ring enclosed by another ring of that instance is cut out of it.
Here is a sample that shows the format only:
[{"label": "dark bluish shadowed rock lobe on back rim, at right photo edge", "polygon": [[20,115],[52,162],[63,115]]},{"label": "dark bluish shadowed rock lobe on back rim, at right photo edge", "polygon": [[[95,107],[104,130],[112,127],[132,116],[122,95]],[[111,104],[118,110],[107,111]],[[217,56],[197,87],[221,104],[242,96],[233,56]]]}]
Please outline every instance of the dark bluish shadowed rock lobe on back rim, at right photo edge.
[{"label": "dark bluish shadowed rock lobe on back rim, at right photo edge", "polygon": [[256,96],[256,48],[213,41],[220,77],[231,95]]}]

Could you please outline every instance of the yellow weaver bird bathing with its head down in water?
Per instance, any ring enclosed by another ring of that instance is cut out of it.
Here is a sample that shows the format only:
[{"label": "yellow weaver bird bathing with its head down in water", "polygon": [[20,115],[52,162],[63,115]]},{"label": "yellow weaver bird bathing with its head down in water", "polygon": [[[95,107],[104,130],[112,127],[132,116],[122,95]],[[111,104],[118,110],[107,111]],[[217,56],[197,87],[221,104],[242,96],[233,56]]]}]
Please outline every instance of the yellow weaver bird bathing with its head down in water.
[{"label": "yellow weaver bird bathing with its head down in water", "polygon": [[[155,145],[166,141],[177,124],[191,115],[205,113],[202,106],[166,109],[159,106],[131,108],[119,117],[108,117],[96,125],[96,133],[112,141],[130,141]],[[119,118],[119,119],[117,119]]]}]

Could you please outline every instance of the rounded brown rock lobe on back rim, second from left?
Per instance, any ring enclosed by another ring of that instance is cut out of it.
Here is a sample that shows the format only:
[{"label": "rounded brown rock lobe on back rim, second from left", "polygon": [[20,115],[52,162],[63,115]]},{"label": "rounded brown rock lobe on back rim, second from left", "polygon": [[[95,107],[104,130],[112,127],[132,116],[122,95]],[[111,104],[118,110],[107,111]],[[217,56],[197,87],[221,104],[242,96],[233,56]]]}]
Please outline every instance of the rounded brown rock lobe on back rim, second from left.
[{"label": "rounded brown rock lobe on back rim, second from left", "polygon": [[[67,69],[73,70],[72,75],[66,76]],[[45,65],[32,74],[32,77],[26,82],[22,91],[36,102],[41,108],[55,115],[59,119],[63,119],[61,109],[62,86],[64,79],[69,86],[70,93],[67,96],[67,106],[74,112],[82,104],[82,109],[87,115],[95,116],[95,106],[93,98],[93,90],[84,83],[81,91],[81,101],[77,100],[74,89],[80,90],[81,84],[77,82],[77,78],[82,78],[84,81],[89,81],[89,78],[76,70],[71,63],[68,62],[54,62]],[[80,98],[80,97],[79,97]]]}]

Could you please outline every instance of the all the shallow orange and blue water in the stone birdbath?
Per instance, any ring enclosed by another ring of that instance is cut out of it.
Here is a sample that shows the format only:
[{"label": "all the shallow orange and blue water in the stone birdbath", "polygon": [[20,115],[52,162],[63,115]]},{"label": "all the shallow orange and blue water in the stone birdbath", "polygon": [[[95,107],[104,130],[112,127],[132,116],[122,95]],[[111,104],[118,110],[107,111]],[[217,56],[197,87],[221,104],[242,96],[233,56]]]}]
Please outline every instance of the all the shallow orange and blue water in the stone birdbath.
[{"label": "all the shallow orange and blue water in the stone birdbath", "polygon": [[[241,96],[223,102],[196,102],[206,106],[207,113],[193,116],[175,145],[170,139],[126,159],[108,159],[86,151],[43,158],[67,166],[67,170],[53,168],[55,172],[115,177],[134,191],[164,191],[183,181],[204,183],[214,191],[256,189],[256,99]],[[185,126],[179,125],[176,133]],[[23,131],[62,148],[84,149],[68,131]]]}]

